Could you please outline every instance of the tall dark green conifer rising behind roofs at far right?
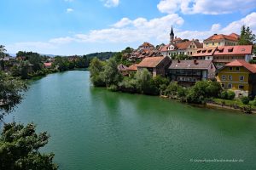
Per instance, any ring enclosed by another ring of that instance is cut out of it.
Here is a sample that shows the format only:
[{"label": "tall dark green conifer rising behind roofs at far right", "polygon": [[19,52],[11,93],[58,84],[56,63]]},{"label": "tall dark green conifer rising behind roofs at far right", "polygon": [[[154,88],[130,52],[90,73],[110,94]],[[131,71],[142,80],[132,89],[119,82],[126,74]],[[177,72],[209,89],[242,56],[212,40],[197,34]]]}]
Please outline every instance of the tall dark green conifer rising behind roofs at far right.
[{"label": "tall dark green conifer rising behind roofs at far right", "polygon": [[241,26],[239,45],[253,45],[255,40],[255,34],[253,34],[253,31],[250,30],[249,26]]}]

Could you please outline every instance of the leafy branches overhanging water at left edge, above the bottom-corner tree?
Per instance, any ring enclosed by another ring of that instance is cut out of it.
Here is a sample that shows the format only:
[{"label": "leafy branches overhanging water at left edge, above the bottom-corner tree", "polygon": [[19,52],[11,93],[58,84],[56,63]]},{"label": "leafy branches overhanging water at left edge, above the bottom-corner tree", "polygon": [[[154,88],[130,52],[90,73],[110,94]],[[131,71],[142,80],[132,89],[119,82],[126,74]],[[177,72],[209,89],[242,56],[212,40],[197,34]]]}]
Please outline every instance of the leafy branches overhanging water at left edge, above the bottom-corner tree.
[{"label": "leafy branches overhanging water at left edge, above the bottom-corner tree", "polygon": [[0,120],[20,104],[26,83],[0,71]]}]

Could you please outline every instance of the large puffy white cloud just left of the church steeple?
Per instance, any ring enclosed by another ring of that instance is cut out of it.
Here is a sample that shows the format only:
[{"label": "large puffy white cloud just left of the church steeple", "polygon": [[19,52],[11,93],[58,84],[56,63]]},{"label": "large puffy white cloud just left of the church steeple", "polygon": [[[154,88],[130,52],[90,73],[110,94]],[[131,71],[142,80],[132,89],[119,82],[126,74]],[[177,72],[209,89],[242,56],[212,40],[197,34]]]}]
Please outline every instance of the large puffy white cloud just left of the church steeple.
[{"label": "large puffy white cloud just left of the church steeple", "polygon": [[102,30],[93,30],[88,34],[79,34],[75,37],[81,42],[137,42],[158,39],[171,30],[171,26],[183,25],[183,18],[177,14],[168,14],[161,18],[147,20],[124,18],[113,24],[112,27]]}]

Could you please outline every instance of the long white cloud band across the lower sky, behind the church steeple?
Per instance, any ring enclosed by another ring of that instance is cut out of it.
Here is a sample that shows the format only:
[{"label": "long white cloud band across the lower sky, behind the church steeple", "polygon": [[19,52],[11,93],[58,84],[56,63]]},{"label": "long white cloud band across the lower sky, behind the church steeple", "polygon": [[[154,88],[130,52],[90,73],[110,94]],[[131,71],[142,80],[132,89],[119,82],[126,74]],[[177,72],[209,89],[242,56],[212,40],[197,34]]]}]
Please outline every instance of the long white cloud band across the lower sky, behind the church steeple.
[{"label": "long white cloud band across the lower sky, behind the church steeple", "polygon": [[[6,48],[8,51],[26,50],[47,53],[47,51],[52,50],[55,53],[55,51],[59,50],[62,53],[64,49],[66,50],[66,48],[71,47],[69,43],[76,42],[77,44],[83,44],[83,47],[84,44],[96,44],[92,45],[93,47],[99,47],[103,44],[103,47],[105,47],[105,44],[108,43],[106,47],[113,46],[109,50],[115,51],[115,46],[119,46],[119,44],[127,45],[127,42],[131,45],[132,42],[145,41],[166,43],[169,40],[172,25],[174,26],[175,36],[187,39],[194,38],[201,41],[212,36],[214,33],[230,34],[235,32],[240,34],[242,25],[250,26],[253,33],[256,33],[256,12],[248,14],[241,20],[233,21],[224,27],[220,24],[214,24],[207,31],[183,31],[178,29],[179,26],[183,25],[183,22],[183,18],[177,14],[168,14],[152,20],[145,18],[137,18],[136,20],[123,18],[109,28],[92,30],[87,34],[73,34],[71,37],[56,37],[50,39],[48,42],[18,42],[7,45]],[[101,51],[102,48],[98,48],[97,50]]]}]

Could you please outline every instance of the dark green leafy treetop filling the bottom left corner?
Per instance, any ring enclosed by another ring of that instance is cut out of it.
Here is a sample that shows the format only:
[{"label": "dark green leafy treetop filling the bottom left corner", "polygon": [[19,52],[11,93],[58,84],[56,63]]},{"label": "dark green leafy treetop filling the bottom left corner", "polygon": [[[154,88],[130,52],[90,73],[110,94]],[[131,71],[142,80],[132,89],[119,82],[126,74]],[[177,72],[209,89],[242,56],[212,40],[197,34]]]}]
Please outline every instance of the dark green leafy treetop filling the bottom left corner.
[{"label": "dark green leafy treetop filling the bottom left corner", "polygon": [[36,133],[34,124],[4,124],[0,138],[0,169],[56,170],[54,154],[38,151],[48,143],[47,133]]}]

